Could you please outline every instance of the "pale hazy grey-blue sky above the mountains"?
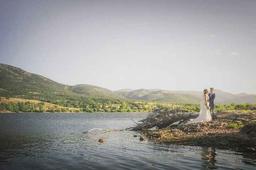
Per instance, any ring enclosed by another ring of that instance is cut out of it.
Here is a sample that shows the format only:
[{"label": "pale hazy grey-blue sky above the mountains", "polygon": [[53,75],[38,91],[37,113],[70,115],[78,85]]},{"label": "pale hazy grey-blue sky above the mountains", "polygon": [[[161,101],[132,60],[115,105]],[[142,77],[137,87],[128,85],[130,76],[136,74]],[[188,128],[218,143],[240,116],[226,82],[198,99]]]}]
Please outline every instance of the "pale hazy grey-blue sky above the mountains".
[{"label": "pale hazy grey-blue sky above the mountains", "polygon": [[1,0],[0,63],[67,85],[256,94],[255,0]]}]

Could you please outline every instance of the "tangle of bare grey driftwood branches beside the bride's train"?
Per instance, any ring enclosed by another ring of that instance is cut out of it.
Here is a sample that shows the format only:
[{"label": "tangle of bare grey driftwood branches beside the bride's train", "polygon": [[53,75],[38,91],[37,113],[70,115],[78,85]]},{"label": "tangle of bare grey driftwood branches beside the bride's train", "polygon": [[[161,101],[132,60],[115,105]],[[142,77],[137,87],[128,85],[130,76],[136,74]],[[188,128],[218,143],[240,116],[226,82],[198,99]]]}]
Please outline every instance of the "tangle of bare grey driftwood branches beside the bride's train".
[{"label": "tangle of bare grey driftwood branches beside the bride's train", "polygon": [[136,125],[132,128],[127,128],[126,130],[146,130],[157,126],[159,129],[166,128],[172,123],[179,120],[188,120],[195,117],[193,113],[185,113],[181,108],[170,108],[170,107],[160,107],[154,109],[150,112],[148,116],[139,120],[139,122],[133,121]]}]

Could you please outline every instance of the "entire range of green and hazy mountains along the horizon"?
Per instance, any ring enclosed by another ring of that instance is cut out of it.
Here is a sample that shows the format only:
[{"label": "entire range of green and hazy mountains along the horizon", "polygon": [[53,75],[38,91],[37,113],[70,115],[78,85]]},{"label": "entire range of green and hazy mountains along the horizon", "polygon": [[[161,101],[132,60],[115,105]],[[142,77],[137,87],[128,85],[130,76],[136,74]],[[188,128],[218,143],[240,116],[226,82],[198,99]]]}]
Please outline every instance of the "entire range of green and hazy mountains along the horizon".
[{"label": "entire range of green and hazy mountains along the horizon", "polygon": [[[216,89],[216,103],[256,103],[256,95],[231,94]],[[18,97],[31,100],[62,103],[76,106],[76,102],[85,103],[90,98],[111,100],[148,100],[170,103],[199,103],[202,91],[170,91],[161,89],[122,89],[111,91],[102,87],[78,84],[74,86],[60,84],[41,75],[26,72],[17,67],[0,64],[0,96]],[[90,100],[89,100],[90,101]],[[92,102],[91,104],[94,104]]]}]

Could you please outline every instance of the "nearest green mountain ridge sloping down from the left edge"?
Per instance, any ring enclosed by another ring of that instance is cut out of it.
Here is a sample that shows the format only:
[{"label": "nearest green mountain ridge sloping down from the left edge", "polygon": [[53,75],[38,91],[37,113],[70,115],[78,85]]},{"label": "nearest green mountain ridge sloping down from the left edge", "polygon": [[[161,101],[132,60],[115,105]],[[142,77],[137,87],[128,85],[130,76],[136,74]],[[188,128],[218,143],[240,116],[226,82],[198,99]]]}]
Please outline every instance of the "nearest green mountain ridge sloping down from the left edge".
[{"label": "nearest green mountain ridge sloping down from the left edge", "polygon": [[57,83],[41,75],[26,72],[17,67],[0,64],[0,94],[3,97],[28,97],[34,99],[65,100],[76,97],[124,98],[111,90],[79,84],[75,86]]}]

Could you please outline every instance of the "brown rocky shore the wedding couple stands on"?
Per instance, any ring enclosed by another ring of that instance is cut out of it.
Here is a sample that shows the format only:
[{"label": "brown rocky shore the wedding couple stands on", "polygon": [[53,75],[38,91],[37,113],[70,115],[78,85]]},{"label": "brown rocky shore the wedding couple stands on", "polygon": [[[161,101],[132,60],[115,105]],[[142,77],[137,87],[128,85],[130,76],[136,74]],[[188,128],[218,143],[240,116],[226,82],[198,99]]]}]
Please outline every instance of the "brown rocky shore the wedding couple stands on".
[{"label": "brown rocky shore the wedding couple stands on", "polygon": [[144,131],[148,140],[175,145],[256,150],[256,111],[220,111],[217,119]]}]

